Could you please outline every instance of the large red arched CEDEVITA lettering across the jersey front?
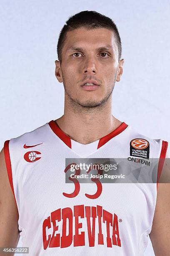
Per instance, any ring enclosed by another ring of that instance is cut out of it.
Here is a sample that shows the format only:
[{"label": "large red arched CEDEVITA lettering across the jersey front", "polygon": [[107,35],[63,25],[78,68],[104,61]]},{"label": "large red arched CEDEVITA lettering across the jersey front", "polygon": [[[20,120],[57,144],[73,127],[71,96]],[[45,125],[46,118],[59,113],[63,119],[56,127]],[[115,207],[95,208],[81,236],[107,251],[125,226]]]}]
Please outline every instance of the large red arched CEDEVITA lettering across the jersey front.
[{"label": "large red arched CEDEVITA lettering across the jersey front", "polygon": [[[58,225],[56,225],[56,220]],[[102,232],[102,223],[105,223],[106,232]],[[59,228],[59,225],[62,227]],[[52,232],[47,236],[47,230],[50,228],[52,228]],[[84,231],[80,232],[80,228]],[[62,230],[62,234],[59,230]],[[95,241],[96,232],[97,239]],[[103,233],[106,234],[106,239],[104,239]],[[85,244],[85,236],[88,238],[88,245]],[[72,244],[72,241],[74,247],[85,245],[94,247],[96,244],[104,245],[104,241],[106,241],[107,247],[121,246],[117,215],[115,213],[112,215],[102,209],[100,205],[96,207],[75,205],[73,210],[66,207],[51,212],[50,216],[43,221],[42,237],[45,250],[47,247],[66,248]]]}]

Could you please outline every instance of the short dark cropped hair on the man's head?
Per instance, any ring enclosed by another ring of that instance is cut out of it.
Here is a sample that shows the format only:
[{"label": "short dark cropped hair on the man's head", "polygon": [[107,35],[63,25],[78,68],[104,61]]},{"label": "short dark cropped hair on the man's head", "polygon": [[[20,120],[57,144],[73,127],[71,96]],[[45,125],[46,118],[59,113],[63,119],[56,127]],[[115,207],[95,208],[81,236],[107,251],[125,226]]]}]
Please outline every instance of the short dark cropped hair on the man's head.
[{"label": "short dark cropped hair on the man's head", "polygon": [[118,59],[120,60],[122,55],[122,44],[117,26],[113,20],[96,11],[85,10],[70,16],[60,32],[57,43],[57,55],[60,62],[62,60],[62,48],[66,40],[67,32],[80,27],[85,27],[87,29],[107,28],[112,30],[115,34],[115,41],[118,47]]}]

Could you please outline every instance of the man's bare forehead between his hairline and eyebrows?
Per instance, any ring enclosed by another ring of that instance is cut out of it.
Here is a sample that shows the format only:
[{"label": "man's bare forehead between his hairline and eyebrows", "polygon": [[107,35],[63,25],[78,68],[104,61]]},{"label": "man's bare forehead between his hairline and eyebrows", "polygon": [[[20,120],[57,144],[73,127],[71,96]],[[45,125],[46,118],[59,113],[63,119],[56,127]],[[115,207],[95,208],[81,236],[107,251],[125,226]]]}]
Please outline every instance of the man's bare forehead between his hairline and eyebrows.
[{"label": "man's bare forehead between his hairline and eyebrows", "polygon": [[69,51],[71,47],[82,47],[83,49],[97,49],[101,46],[110,46],[110,50],[117,51],[114,32],[107,28],[77,28],[68,31],[63,53]]}]

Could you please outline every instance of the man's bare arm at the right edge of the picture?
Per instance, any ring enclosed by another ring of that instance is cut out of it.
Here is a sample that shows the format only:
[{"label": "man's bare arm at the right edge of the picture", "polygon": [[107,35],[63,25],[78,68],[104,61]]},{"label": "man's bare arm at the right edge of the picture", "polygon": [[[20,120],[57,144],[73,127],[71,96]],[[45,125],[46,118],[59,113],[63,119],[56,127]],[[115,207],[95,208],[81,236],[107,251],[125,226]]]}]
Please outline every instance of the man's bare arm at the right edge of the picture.
[{"label": "man's bare arm at the right edge of the picture", "polygon": [[155,256],[170,255],[170,159],[165,159],[157,190],[150,240]]}]

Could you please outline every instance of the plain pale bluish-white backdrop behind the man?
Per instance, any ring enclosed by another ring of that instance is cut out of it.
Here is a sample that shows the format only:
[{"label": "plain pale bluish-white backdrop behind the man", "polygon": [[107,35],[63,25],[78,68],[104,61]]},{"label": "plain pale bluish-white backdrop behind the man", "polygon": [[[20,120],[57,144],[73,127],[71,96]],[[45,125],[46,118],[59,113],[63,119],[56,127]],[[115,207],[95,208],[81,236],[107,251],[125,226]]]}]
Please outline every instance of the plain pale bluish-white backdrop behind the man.
[{"label": "plain pale bluish-white backdrop behind the man", "polygon": [[[54,73],[57,38],[67,18],[82,10],[109,16],[120,32],[125,63],[112,114],[150,138],[170,141],[168,0],[1,0],[0,148],[63,114],[63,85]],[[150,239],[146,255],[154,255]]]}]

